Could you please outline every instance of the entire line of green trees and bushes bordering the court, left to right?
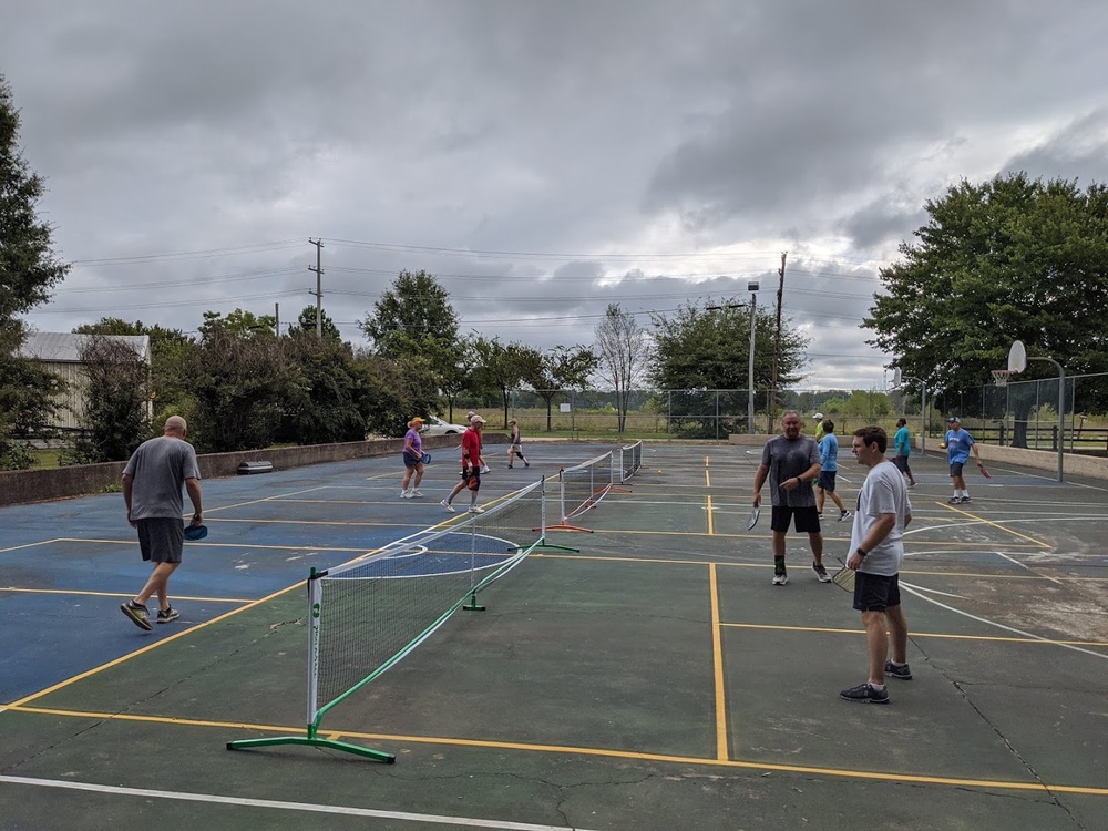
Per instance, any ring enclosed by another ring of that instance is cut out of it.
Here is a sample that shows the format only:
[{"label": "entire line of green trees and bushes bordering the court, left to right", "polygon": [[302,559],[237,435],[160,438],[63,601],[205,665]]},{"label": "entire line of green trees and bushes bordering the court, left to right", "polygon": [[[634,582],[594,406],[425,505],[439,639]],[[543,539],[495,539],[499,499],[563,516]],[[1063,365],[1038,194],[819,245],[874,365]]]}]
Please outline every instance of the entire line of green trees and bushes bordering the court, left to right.
[{"label": "entire line of green trees and bushes bordering the court, left to right", "polygon": [[[69,271],[53,228],[37,214],[43,179],[18,144],[19,112],[0,75],[0,468],[28,466],[28,440],[49,434],[61,381],[21,356],[22,316],[47,302]],[[881,290],[862,327],[866,342],[897,356],[912,391],[932,396],[979,386],[1005,366],[1012,342],[1050,355],[1069,375],[1108,372],[1108,188],[1032,179],[1023,173],[961,182],[925,205],[927,223],[900,260],[880,269]],[[401,271],[359,328],[369,346],[343,342],[307,307],[287,332],[276,320],[235,309],[207,311],[198,336],[105,318],[89,335],[89,400],[72,461],[123,459],[170,412],[189,419],[205,451],[273,443],[351,441],[398,434],[413,414],[448,413],[460,396],[478,397],[509,418],[509,396],[530,387],[550,411],[560,390],[605,384],[617,393],[619,428],[640,386],[708,390],[747,387],[755,327],[755,387],[803,378],[807,338],[729,298],[690,300],[676,314],[653,312],[644,327],[609,305],[594,343],[542,350],[497,337],[459,334],[449,295],[433,275]],[[148,371],[112,335],[147,335]],[[777,346],[779,343],[779,346]],[[1049,368],[1028,366],[1025,378]],[[1083,410],[1104,412],[1104,384]],[[770,402],[770,411],[779,402]],[[681,413],[677,413],[680,416]],[[1019,414],[1017,413],[1017,419]]]}]

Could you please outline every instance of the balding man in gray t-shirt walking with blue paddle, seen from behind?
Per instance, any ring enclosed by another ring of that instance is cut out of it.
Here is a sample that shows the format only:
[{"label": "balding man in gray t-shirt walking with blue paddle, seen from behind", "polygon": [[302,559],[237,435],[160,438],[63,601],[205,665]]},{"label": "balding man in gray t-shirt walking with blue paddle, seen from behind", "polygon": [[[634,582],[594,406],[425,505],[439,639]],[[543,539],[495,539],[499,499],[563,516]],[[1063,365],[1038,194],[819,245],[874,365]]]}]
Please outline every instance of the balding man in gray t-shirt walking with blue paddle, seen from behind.
[{"label": "balding man in gray t-shirt walking with blue paddle, seen from behind", "polygon": [[170,605],[170,575],[181,565],[184,544],[184,499],[181,490],[188,491],[193,503],[193,525],[204,524],[201,502],[201,472],[196,451],[185,441],[188,425],[179,416],[171,416],[162,428],[162,435],[138,445],[123,470],[123,501],[127,506],[127,522],[138,531],[142,558],[153,562],[146,585],[132,601],[120,608],[132,623],[147,632],[150,612],[146,601],[157,595],[157,622],[168,623],[178,617]]}]

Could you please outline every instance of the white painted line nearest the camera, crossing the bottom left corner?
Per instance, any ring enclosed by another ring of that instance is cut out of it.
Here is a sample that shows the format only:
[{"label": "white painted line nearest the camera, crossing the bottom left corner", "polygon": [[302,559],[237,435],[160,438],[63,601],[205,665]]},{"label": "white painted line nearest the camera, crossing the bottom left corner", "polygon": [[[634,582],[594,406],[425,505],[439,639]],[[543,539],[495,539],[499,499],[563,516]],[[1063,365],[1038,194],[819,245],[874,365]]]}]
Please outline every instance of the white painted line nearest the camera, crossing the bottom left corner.
[{"label": "white painted line nearest the camera, crossing the bottom left corner", "polygon": [[372,808],[350,808],[347,806],[321,806],[311,802],[285,802],[275,799],[248,799],[245,797],[219,797],[212,793],[187,793],[183,791],[160,791],[148,788],[122,788],[113,784],[88,784],[85,782],[55,782],[49,779],[29,777],[0,776],[0,783],[38,786],[42,788],[62,788],[92,793],[112,793],[122,797],[142,797],[144,799],[174,799],[183,802],[204,802],[207,804],[240,806],[249,808],[273,808],[281,811],[304,811],[307,813],[334,813],[343,817],[376,817],[378,819],[401,820],[404,822],[434,822],[441,825],[464,825],[466,828],[491,828],[504,831],[587,831],[576,825],[535,825],[530,822],[497,822],[496,820],[478,820],[465,817],[440,817],[431,813],[410,813],[408,811],[380,811]]}]

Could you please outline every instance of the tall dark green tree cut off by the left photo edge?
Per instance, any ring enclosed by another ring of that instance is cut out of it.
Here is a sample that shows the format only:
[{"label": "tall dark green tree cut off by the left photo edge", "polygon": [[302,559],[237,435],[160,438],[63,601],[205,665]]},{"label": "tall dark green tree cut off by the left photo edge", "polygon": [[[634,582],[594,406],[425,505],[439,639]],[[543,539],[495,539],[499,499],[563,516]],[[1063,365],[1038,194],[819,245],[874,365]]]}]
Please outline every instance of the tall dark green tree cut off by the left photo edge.
[{"label": "tall dark green tree cut off by the left photo edge", "polygon": [[69,271],[54,257],[53,228],[38,218],[43,179],[19,151],[19,111],[0,75],[0,466],[28,468],[33,458],[13,439],[47,429],[55,411],[55,376],[19,349],[27,339],[20,315],[50,299],[50,289]]}]

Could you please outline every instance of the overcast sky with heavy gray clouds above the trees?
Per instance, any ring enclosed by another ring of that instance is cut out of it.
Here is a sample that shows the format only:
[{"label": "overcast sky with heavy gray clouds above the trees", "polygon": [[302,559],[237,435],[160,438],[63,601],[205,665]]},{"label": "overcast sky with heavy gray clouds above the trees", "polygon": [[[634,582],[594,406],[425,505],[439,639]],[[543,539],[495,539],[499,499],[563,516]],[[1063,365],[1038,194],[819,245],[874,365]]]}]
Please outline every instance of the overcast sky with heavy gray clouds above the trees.
[{"label": "overcast sky with heavy gray clouds above the trees", "polygon": [[401,269],[463,331],[592,345],[611,302],[777,301],[803,387],[929,198],[1108,181],[1097,0],[0,0],[0,74],[73,268],[40,331],[205,310],[357,321]]}]

